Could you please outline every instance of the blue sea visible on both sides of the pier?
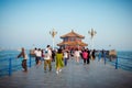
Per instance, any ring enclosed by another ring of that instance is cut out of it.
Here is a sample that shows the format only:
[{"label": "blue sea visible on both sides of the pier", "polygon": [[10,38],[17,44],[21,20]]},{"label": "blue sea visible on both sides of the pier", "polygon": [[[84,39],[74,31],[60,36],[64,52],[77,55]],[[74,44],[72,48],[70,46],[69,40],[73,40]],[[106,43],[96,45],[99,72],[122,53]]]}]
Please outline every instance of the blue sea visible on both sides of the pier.
[{"label": "blue sea visible on both sides of the pier", "polygon": [[[20,54],[19,50],[8,50],[8,51],[0,51],[0,77],[8,75],[9,70],[9,59],[11,58],[12,64],[12,72],[22,70],[21,63],[22,58],[16,58],[16,56]],[[30,51],[26,50],[26,54],[30,54]],[[118,65],[119,68],[132,72],[132,51],[118,51]],[[30,58],[30,56],[29,56]],[[32,57],[32,66],[35,65],[35,58]],[[114,61],[113,61],[114,62]],[[114,66],[114,64],[108,64]],[[28,65],[30,63],[30,59],[28,59]]]}]

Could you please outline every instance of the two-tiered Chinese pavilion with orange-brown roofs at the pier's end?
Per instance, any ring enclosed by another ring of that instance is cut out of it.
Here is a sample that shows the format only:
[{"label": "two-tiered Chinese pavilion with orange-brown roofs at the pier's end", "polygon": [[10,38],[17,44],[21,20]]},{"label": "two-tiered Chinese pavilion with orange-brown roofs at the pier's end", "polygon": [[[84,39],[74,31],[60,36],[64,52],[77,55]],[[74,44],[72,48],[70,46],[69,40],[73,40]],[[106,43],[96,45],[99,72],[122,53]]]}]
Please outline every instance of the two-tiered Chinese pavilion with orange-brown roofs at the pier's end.
[{"label": "two-tiered Chinese pavilion with orange-brown roofs at the pier's end", "polygon": [[88,46],[88,44],[81,41],[85,36],[74,32],[73,30],[69,33],[62,35],[61,38],[63,38],[63,42],[58,43],[57,46],[66,50],[81,50],[82,47]]}]

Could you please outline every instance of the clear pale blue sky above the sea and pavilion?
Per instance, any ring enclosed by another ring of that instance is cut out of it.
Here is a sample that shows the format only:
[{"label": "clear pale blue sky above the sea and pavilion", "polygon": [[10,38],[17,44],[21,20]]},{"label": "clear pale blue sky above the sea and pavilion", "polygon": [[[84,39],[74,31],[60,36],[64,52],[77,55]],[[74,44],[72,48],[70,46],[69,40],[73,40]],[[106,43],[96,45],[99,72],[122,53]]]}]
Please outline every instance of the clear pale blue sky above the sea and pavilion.
[{"label": "clear pale blue sky above the sea and pavilion", "polygon": [[94,48],[132,51],[132,1],[0,0],[0,48],[45,48],[53,29],[55,46],[74,30],[90,48],[94,29]]}]

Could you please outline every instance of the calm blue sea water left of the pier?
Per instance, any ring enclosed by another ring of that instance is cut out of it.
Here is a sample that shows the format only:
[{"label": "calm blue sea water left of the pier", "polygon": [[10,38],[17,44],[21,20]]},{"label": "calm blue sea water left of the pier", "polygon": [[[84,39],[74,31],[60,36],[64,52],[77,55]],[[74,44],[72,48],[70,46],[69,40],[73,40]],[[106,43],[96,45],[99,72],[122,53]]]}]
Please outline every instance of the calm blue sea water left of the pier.
[{"label": "calm blue sea water left of the pier", "polygon": [[[9,58],[12,61],[12,70],[22,70],[22,59],[23,58],[16,58],[16,56],[20,54],[20,51],[0,51],[0,77],[3,75],[8,75],[9,70]],[[26,51],[26,54],[29,55],[29,51]],[[30,56],[29,56],[30,57]],[[35,65],[35,58],[32,58],[32,65]],[[28,59],[28,65],[30,63],[30,59]]]}]

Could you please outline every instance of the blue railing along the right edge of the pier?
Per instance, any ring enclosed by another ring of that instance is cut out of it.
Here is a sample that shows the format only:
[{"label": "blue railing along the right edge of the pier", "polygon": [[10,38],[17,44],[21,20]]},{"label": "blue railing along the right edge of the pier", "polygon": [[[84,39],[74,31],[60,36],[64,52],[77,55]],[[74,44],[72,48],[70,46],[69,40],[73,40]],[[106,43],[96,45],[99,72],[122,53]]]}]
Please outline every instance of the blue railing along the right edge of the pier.
[{"label": "blue railing along the right edge of the pier", "polygon": [[111,64],[112,66],[114,66],[116,69],[118,68],[122,68],[122,69],[125,69],[125,70],[132,70],[132,64],[131,63],[128,63],[125,61],[131,61],[131,58],[128,58],[128,57],[121,57],[121,56],[117,56],[117,57],[111,57],[111,58],[108,58],[107,55],[105,54],[102,57],[99,56],[99,59],[103,58],[103,63],[105,65],[107,63]]}]

